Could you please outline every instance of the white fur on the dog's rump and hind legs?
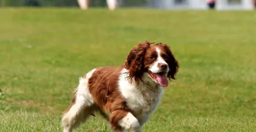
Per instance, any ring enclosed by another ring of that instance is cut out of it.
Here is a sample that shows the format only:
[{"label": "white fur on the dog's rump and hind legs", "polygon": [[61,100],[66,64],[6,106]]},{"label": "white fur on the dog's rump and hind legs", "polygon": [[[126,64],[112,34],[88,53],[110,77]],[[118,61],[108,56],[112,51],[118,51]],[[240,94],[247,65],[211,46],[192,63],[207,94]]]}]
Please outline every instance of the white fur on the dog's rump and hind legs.
[{"label": "white fur on the dog's rump and hind legs", "polygon": [[64,132],[72,131],[72,129],[78,127],[80,123],[86,121],[90,115],[90,111],[84,111],[83,109],[94,104],[94,100],[92,100],[88,89],[88,79],[95,70],[96,69],[92,69],[88,72],[85,78],[79,78],[79,86],[75,89],[76,94],[74,95],[75,103],[71,109],[64,114],[62,119]]}]

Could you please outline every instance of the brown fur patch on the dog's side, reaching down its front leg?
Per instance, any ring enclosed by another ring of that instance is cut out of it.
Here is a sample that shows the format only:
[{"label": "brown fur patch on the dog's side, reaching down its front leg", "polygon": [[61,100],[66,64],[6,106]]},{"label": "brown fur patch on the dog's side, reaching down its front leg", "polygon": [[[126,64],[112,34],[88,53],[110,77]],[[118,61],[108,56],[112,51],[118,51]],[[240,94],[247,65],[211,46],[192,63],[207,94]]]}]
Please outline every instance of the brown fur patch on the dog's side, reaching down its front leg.
[{"label": "brown fur patch on the dog's side, reaching down its front leg", "polygon": [[100,67],[88,81],[92,98],[99,108],[111,113],[109,121],[115,130],[121,130],[118,121],[129,112],[125,98],[118,89],[121,70],[122,67]]}]

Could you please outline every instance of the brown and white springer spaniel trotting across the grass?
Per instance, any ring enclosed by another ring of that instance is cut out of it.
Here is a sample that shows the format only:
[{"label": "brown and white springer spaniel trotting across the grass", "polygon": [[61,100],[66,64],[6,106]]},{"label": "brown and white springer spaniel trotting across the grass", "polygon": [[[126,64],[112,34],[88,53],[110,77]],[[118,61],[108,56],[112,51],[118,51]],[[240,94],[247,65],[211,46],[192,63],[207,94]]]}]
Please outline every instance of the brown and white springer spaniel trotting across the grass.
[{"label": "brown and white springer spaniel trotting across the grass", "polygon": [[139,43],[122,67],[98,67],[80,77],[71,106],[64,112],[64,131],[72,131],[95,112],[115,131],[142,131],[156,110],[162,87],[175,79],[179,63],[166,44]]}]

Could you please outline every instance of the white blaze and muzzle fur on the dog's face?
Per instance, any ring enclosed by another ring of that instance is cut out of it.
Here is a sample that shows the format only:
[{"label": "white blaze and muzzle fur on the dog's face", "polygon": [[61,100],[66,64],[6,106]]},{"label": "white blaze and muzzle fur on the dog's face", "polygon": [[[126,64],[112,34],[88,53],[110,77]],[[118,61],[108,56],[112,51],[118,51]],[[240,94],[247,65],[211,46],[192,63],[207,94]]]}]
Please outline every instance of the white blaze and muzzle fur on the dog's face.
[{"label": "white blaze and muzzle fur on the dog's face", "polygon": [[[162,72],[160,68],[158,68],[158,64],[159,63],[162,63],[162,64],[167,64],[166,61],[164,59],[162,59],[162,56],[161,56],[161,50],[156,47],[156,51],[157,51],[157,61],[153,63],[153,65],[151,65],[149,67],[149,70],[153,73],[158,73],[158,72]],[[168,64],[167,64],[168,65]],[[169,67],[167,68],[166,71],[169,71]]]}]

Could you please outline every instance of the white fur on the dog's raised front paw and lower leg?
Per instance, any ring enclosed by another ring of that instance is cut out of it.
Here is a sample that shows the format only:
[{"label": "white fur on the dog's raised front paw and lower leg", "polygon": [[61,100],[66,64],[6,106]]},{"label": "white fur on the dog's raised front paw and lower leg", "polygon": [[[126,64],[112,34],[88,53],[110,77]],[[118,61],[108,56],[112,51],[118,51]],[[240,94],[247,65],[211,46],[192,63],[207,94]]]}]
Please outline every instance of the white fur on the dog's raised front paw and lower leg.
[{"label": "white fur on the dog's raised front paw and lower leg", "polygon": [[141,131],[141,126],[138,120],[130,112],[120,121],[118,124],[126,131],[129,132],[139,132]]}]

